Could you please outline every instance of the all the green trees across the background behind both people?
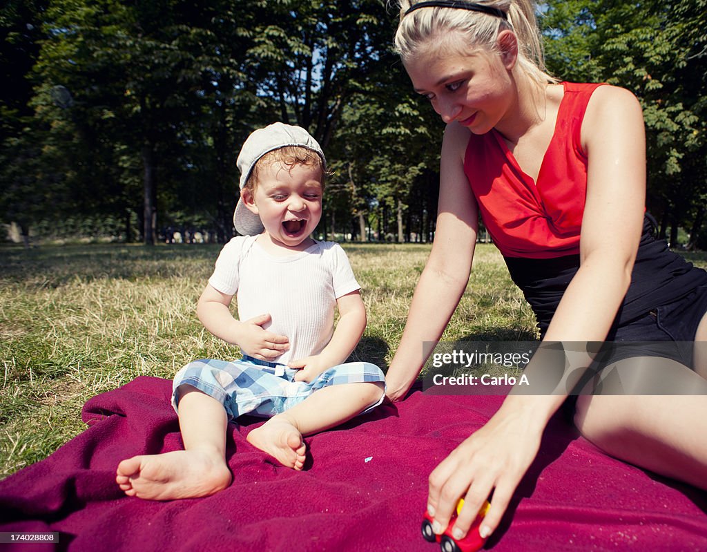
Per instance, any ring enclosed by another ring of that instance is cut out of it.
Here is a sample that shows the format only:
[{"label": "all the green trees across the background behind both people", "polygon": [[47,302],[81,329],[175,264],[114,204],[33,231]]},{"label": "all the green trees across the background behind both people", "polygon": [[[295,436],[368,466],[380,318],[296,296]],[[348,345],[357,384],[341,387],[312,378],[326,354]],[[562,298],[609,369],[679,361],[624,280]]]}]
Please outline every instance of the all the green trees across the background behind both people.
[{"label": "all the green trees across the background behind both people", "polygon": [[[547,62],[636,93],[649,208],[696,243],[705,217],[707,1],[549,0]],[[442,125],[411,93],[382,0],[8,0],[0,8],[0,218],[232,234],[247,134],[303,126],[334,168],[321,235],[433,234]],[[117,235],[112,231],[111,234]]]}]

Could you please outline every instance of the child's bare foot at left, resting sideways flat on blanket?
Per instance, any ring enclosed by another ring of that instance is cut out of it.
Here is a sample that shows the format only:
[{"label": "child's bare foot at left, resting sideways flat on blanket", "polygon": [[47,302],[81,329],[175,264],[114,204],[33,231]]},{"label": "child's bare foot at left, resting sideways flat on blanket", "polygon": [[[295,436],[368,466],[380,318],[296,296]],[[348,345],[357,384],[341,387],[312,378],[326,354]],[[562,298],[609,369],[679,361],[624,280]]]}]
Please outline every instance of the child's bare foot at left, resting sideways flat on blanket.
[{"label": "child's bare foot at left, resting sideways flat on blanket", "polygon": [[115,481],[128,496],[173,500],[213,495],[228,487],[231,475],[222,458],[179,450],[123,460]]}]

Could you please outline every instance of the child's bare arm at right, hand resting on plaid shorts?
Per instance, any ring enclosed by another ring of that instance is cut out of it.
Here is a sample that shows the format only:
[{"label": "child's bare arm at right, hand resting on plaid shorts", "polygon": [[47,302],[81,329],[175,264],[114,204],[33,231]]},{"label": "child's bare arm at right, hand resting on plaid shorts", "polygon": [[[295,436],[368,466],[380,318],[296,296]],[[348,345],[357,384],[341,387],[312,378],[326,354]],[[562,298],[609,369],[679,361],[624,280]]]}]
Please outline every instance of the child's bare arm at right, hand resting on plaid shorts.
[{"label": "child's bare arm at right, hand resting on plaid shorts", "polygon": [[361,293],[356,290],[337,299],[339,323],[334,329],[332,340],[319,355],[292,360],[291,368],[300,368],[295,374],[296,381],[312,381],[326,369],[341,364],[358,345],[358,340],[366,329],[366,306]]}]

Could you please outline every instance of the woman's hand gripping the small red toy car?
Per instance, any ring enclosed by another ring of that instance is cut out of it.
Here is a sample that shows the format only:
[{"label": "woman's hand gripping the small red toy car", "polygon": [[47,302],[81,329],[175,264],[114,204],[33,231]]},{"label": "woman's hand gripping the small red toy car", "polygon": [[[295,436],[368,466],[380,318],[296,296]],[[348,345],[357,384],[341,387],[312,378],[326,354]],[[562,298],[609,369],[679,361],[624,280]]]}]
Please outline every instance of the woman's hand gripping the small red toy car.
[{"label": "woman's hand gripping the small red toy car", "polygon": [[483,538],[496,530],[520,479],[532,464],[540,446],[543,427],[530,422],[526,410],[504,409],[464,440],[430,475],[428,513],[433,530],[448,526],[460,498],[464,507],[457,517],[453,536],[462,539],[477,517],[484,500],[491,507],[479,533]]}]

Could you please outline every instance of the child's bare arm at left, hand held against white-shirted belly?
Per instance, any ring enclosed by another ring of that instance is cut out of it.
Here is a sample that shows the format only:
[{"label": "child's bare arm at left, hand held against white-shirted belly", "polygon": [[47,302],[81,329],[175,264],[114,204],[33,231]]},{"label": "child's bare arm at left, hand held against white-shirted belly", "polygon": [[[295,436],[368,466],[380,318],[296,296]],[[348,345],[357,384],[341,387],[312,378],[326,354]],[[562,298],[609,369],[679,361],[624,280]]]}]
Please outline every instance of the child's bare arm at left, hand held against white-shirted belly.
[{"label": "child's bare arm at left, hand held against white-shirted belly", "polygon": [[238,345],[246,355],[260,360],[272,360],[290,348],[286,336],[262,328],[270,321],[269,314],[246,321],[233,318],[228,309],[232,299],[233,295],[223,294],[211,284],[206,285],[197,304],[197,316],[204,328],[226,343]]}]

